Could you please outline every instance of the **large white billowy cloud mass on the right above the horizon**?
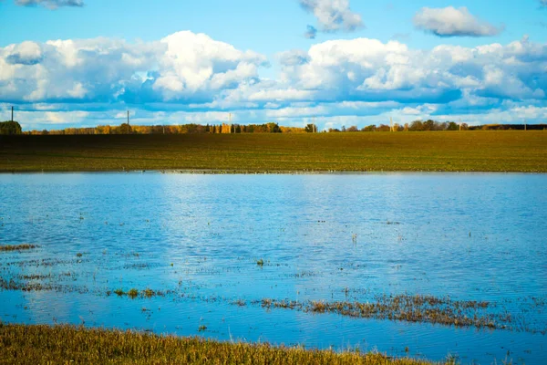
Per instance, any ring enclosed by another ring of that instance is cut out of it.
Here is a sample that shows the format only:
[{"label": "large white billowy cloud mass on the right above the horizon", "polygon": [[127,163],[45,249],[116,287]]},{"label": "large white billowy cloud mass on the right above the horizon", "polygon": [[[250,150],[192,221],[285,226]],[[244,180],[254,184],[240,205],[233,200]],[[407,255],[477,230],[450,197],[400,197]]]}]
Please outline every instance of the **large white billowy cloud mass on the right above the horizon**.
[{"label": "large white billowy cloud mass on the right above the horizon", "polygon": [[530,41],[483,47],[409,49],[356,38],[310,47],[285,62],[282,80],[327,99],[449,102],[465,91],[499,99],[544,99],[547,46]]}]

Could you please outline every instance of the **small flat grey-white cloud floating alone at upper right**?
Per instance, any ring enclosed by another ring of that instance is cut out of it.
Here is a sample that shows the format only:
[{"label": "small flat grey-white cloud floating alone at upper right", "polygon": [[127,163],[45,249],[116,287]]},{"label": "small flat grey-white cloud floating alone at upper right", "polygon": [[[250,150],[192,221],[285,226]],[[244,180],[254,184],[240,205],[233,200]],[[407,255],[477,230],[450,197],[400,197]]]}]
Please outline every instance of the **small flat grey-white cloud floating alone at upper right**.
[{"label": "small flat grey-white cloud floating alone at upper right", "polygon": [[414,16],[414,26],[436,36],[495,36],[502,28],[470,14],[467,7],[423,7]]}]

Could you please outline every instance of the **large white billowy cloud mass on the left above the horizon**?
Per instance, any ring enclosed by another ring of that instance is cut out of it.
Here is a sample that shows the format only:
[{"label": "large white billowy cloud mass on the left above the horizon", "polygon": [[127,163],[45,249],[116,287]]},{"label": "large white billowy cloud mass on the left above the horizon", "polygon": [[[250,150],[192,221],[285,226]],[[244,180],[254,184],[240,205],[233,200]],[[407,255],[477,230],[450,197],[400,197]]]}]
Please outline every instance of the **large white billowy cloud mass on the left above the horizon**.
[{"label": "large white billowy cloud mass on the left above the horizon", "polygon": [[192,32],[130,44],[94,38],[0,47],[0,99],[211,101],[253,82],[266,58]]}]

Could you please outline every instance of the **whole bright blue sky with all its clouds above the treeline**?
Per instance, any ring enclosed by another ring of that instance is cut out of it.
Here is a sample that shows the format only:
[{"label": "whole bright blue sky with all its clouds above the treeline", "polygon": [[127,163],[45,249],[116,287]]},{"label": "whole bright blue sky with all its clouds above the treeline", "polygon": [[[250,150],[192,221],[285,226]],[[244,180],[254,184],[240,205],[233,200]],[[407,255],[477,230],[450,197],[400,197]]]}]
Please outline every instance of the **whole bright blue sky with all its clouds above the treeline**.
[{"label": "whole bright blue sky with all its clouds above the treeline", "polygon": [[0,0],[0,120],[547,123],[547,0]]}]

